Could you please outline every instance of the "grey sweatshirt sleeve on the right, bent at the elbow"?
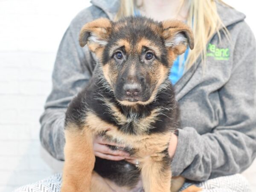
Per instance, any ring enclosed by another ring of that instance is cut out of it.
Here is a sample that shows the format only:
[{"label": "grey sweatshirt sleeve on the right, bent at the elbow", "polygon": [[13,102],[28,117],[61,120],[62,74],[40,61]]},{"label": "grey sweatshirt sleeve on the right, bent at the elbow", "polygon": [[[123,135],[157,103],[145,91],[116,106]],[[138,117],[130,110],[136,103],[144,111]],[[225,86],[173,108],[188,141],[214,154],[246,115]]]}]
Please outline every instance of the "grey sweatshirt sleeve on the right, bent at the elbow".
[{"label": "grey sweatshirt sleeve on the right, bent at the elbow", "polygon": [[235,41],[231,77],[217,91],[224,123],[203,135],[193,127],[179,129],[173,175],[195,181],[231,175],[256,157],[256,42],[247,26]]}]

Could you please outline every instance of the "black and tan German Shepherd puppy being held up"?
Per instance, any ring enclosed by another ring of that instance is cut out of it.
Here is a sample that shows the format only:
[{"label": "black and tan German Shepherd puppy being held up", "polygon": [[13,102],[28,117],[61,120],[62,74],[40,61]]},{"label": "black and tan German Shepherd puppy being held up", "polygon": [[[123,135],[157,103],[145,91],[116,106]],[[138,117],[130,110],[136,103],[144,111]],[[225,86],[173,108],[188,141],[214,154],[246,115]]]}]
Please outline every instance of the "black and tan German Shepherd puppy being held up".
[{"label": "black and tan German Shepherd puppy being held up", "polygon": [[[104,180],[129,189],[140,177],[145,192],[170,192],[168,145],[179,111],[169,72],[193,49],[192,31],[177,20],[99,18],[83,26],[79,42],[99,62],[67,108],[61,192],[111,192]],[[140,164],[95,157],[96,136],[124,145]]]}]

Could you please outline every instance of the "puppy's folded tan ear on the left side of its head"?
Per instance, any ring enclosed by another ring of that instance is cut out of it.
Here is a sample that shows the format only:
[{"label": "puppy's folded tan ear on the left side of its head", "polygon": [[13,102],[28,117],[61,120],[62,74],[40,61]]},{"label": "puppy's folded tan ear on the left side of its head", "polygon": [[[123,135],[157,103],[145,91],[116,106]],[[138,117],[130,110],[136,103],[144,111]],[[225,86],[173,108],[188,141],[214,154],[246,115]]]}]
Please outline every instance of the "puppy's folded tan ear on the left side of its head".
[{"label": "puppy's folded tan ear on the left side of its head", "polygon": [[84,47],[88,44],[92,52],[108,43],[112,23],[107,18],[99,18],[86,23],[79,34],[79,44]]}]

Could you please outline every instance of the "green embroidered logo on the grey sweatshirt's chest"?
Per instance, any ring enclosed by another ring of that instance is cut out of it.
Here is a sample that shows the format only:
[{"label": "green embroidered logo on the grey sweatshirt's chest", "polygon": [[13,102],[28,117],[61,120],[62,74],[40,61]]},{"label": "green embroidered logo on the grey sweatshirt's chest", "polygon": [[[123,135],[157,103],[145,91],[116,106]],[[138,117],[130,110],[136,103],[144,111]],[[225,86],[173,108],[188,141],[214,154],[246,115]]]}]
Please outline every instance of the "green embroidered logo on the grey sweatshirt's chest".
[{"label": "green embroidered logo on the grey sweatshirt's chest", "polygon": [[209,44],[207,47],[207,57],[214,57],[215,60],[229,60],[230,50],[229,48],[217,48],[214,44]]}]

